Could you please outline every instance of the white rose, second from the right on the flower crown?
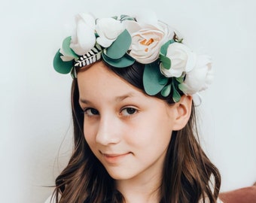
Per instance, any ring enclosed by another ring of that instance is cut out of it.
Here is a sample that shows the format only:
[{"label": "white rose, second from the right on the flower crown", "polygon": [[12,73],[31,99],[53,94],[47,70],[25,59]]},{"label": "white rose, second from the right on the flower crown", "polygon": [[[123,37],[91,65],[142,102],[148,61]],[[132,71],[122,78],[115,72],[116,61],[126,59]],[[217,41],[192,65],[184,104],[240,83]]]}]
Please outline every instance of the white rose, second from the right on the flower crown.
[{"label": "white rose, second from the right on the flower crown", "polygon": [[197,55],[184,44],[169,44],[166,57],[171,60],[171,68],[166,69],[160,64],[160,71],[166,77],[181,77],[184,72],[191,71],[197,63]]}]

